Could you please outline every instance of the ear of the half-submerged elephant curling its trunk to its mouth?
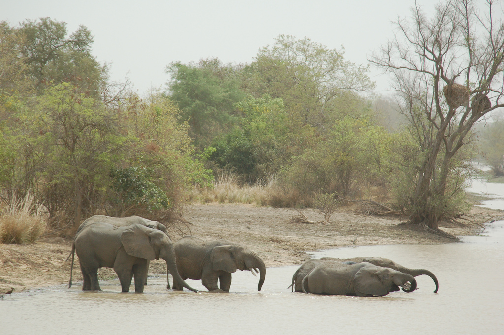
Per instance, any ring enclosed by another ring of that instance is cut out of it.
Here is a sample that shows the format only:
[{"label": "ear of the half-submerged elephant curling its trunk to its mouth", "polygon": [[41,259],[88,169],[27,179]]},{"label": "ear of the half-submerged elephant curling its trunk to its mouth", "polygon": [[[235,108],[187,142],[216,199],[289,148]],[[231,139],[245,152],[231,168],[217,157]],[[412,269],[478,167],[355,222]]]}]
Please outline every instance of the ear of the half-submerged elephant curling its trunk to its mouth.
[{"label": "ear of the half-submerged elephant curling its trunk to its mouth", "polygon": [[355,292],[358,296],[384,296],[389,294],[387,286],[382,278],[380,267],[372,264],[362,266],[354,277]]}]

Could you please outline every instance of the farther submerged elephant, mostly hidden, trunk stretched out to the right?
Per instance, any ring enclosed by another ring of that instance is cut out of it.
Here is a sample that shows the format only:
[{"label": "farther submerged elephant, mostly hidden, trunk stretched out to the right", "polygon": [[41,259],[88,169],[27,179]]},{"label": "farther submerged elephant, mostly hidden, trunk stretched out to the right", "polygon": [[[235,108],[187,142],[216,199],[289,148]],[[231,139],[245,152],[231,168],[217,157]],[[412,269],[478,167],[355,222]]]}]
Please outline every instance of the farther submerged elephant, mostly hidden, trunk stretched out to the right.
[{"label": "farther submerged elephant, mostly hidden, trunk stretched out to the right", "polygon": [[437,293],[437,289],[439,288],[439,285],[437,283],[437,278],[434,276],[433,273],[431,273],[428,270],[425,269],[409,269],[408,267],[404,267],[395,261],[388,259],[388,258],[380,258],[380,257],[354,257],[354,258],[332,258],[332,257],[323,257],[321,259],[309,259],[304,264],[302,264],[299,269],[294,273],[294,276],[292,276],[292,284],[290,287],[292,287],[292,292],[302,292],[301,288],[301,282],[303,278],[315,267],[317,264],[319,264],[321,261],[324,260],[336,260],[339,262],[344,262],[347,264],[352,264],[352,263],[360,263],[360,262],[368,262],[377,266],[383,266],[383,267],[390,267],[390,269],[400,271],[402,273],[411,275],[413,277],[417,277],[420,275],[426,275],[429,276],[432,281],[434,281],[434,284],[436,286],[434,293]]}]

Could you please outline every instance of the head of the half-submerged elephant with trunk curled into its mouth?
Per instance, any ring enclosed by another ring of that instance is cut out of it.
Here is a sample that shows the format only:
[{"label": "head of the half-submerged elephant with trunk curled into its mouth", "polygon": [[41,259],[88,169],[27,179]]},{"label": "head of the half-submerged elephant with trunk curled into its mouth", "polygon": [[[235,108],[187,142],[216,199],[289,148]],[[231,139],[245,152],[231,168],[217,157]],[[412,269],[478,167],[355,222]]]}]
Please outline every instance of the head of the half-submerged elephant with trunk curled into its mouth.
[{"label": "head of the half-submerged elephant with trunk curled into its mouth", "polygon": [[353,279],[354,291],[358,296],[384,296],[399,291],[399,287],[408,293],[416,290],[416,280],[411,275],[389,267],[363,264],[366,265],[360,267]]}]

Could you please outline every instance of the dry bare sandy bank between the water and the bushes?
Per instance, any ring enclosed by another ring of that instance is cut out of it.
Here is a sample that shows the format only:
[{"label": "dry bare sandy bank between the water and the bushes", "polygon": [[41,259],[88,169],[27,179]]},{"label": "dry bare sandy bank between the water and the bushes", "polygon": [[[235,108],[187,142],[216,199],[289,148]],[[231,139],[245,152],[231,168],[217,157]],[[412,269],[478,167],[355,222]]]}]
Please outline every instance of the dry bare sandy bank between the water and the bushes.
[{"label": "dry bare sandy bank between the water and the bushes", "polygon": [[[452,243],[455,239],[404,225],[405,218],[377,217],[359,214],[358,206],[344,207],[333,213],[331,224],[317,223],[323,216],[316,210],[303,209],[302,214],[314,224],[300,223],[295,209],[256,207],[243,204],[195,204],[187,209],[185,219],[191,224],[169,227],[173,241],[185,234],[206,239],[241,242],[255,250],[266,266],[301,264],[308,259],[305,251],[351,245],[434,244]],[[474,207],[459,224],[440,227],[450,234],[475,235],[482,224],[504,220],[502,211]],[[70,261],[66,261],[72,241],[44,238],[33,245],[0,244],[0,294],[11,287],[27,289],[56,286],[70,278]],[[82,280],[76,257],[74,282]],[[162,260],[151,262],[150,275],[166,273]],[[100,269],[100,279],[113,279],[110,269]]]}]

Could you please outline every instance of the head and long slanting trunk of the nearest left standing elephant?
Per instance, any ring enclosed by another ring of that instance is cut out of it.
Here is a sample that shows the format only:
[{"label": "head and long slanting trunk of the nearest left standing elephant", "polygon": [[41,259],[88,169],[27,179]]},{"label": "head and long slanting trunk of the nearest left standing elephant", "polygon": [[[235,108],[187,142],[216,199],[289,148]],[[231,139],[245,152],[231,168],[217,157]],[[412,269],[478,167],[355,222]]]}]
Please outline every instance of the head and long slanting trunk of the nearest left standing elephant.
[{"label": "head and long slanting trunk of the nearest left standing elephant", "polygon": [[164,259],[174,281],[188,290],[198,292],[187,285],[178,274],[173,243],[167,234],[157,229],[134,224],[122,232],[121,243],[129,255],[148,260]]}]

